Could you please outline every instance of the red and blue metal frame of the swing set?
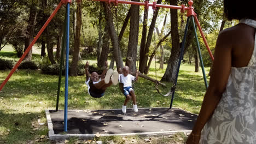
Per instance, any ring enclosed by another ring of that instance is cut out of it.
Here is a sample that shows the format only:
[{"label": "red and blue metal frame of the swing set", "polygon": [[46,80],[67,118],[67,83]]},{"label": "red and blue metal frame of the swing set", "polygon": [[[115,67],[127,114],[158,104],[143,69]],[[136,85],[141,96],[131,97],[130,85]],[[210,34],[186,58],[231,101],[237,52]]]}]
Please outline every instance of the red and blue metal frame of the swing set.
[{"label": "red and blue metal frame of the swing set", "polygon": [[[149,3],[148,1],[145,2],[133,2],[133,1],[123,1],[123,0],[92,0],[92,1],[101,1],[101,2],[107,2],[107,3],[115,3],[116,5],[118,5],[118,3],[122,3],[122,4],[135,4],[135,5],[144,5],[144,8],[148,9],[149,7],[152,7],[153,9],[156,8],[168,8],[168,9],[179,9],[181,10],[182,13],[184,13],[185,11],[187,11],[187,24],[185,26],[185,33],[184,33],[184,37],[182,40],[182,47],[181,47],[181,52],[180,52],[180,56],[179,56],[179,63],[178,63],[178,69],[177,69],[177,73],[176,73],[176,81],[174,83],[174,85],[176,86],[177,84],[177,79],[178,79],[178,73],[179,73],[179,68],[181,65],[181,60],[182,60],[182,56],[183,56],[183,52],[184,52],[184,44],[185,44],[185,39],[187,36],[187,32],[188,32],[188,23],[189,20],[192,19],[193,21],[193,25],[194,25],[194,34],[195,34],[195,39],[196,39],[196,44],[197,44],[197,51],[199,53],[200,56],[200,63],[201,63],[201,68],[202,68],[202,73],[203,73],[203,79],[205,81],[205,87],[207,89],[208,84],[207,84],[207,80],[206,80],[206,75],[205,75],[205,70],[203,67],[203,62],[202,62],[202,56],[201,56],[201,51],[200,51],[200,45],[199,45],[199,40],[197,38],[197,33],[196,33],[196,26],[195,26],[195,22],[197,24],[197,27],[199,28],[199,31],[201,33],[201,36],[203,38],[203,41],[206,45],[207,51],[212,59],[212,61],[214,60],[212,52],[207,44],[205,35],[202,32],[202,28],[200,26],[200,23],[196,17],[196,13],[194,12],[194,8],[193,8],[193,1],[189,1],[189,7],[185,7],[184,4],[182,4],[181,6],[177,6],[177,5],[167,5],[167,4],[156,4],[156,2],[153,3]],[[81,2],[81,0],[77,0],[76,2]],[[13,69],[10,71],[10,73],[8,74],[8,76],[5,78],[5,80],[1,83],[0,85],[0,91],[2,90],[2,88],[4,87],[4,85],[7,83],[7,81],[10,79],[11,75],[13,75],[13,73],[15,72],[15,70],[19,67],[20,63],[22,62],[22,60],[25,58],[25,56],[27,55],[27,53],[31,50],[32,46],[36,43],[37,39],[40,37],[40,35],[43,33],[44,29],[46,28],[46,26],[48,26],[48,24],[50,23],[50,21],[53,19],[53,17],[56,15],[57,11],[61,8],[62,5],[66,5],[66,18],[65,18],[65,39],[62,40],[62,52],[61,52],[61,65],[60,65],[60,76],[59,76],[59,85],[58,85],[58,92],[57,92],[57,103],[56,103],[56,111],[58,110],[58,105],[59,105],[59,95],[60,95],[60,82],[61,82],[61,71],[62,71],[62,65],[63,65],[63,51],[65,49],[66,46],[66,73],[65,73],[65,110],[64,110],[64,131],[67,131],[67,109],[68,109],[68,55],[69,55],[69,13],[70,13],[70,4],[72,3],[72,0],[61,0],[60,3],[57,5],[57,7],[55,8],[55,10],[53,11],[53,13],[50,15],[49,19],[44,23],[43,27],[40,29],[40,31],[37,33],[36,37],[33,39],[33,41],[31,42],[31,44],[27,47],[26,51],[24,52],[24,54],[21,56],[21,58],[19,59],[19,61],[15,64],[15,66],[13,67]],[[195,19],[195,20],[194,20]],[[175,91],[175,89],[174,89]],[[173,97],[174,97],[174,92],[172,93],[172,98],[171,98],[171,104],[170,104],[170,109],[172,108],[172,102],[173,102]]]}]

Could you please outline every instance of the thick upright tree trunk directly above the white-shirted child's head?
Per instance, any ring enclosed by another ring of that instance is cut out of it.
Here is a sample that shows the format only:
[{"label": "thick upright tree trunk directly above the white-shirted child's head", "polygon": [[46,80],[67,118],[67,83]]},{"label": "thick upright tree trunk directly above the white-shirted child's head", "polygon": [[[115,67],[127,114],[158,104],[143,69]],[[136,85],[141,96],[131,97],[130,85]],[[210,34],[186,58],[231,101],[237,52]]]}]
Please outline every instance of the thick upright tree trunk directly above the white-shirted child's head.
[{"label": "thick upright tree trunk directly above the white-shirted child's head", "polygon": [[[132,0],[139,2],[139,0]],[[130,19],[130,33],[129,42],[126,57],[131,57],[135,59],[130,65],[130,71],[134,72],[136,70],[136,59],[137,59],[137,46],[138,46],[138,32],[139,32],[139,5],[131,5],[131,19]],[[125,65],[127,65],[127,62]]]}]

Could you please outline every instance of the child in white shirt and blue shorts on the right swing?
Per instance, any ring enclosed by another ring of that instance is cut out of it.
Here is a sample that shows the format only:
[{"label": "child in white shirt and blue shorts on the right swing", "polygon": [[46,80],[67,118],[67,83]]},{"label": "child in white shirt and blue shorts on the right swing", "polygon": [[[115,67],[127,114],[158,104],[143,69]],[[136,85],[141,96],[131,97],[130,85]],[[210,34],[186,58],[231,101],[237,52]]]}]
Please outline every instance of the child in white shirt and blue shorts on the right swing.
[{"label": "child in white shirt and blue shorts on the right swing", "polygon": [[123,74],[122,70],[119,69],[119,82],[124,83],[124,95],[125,95],[125,101],[124,101],[124,105],[122,107],[122,111],[123,113],[126,113],[126,104],[127,102],[132,99],[132,103],[133,103],[133,111],[134,112],[138,112],[138,107],[136,104],[136,97],[135,97],[135,92],[133,91],[132,88],[132,81],[134,80],[138,80],[138,69],[136,69],[136,76],[133,76],[130,73],[130,68],[128,66],[125,66],[123,68]]}]

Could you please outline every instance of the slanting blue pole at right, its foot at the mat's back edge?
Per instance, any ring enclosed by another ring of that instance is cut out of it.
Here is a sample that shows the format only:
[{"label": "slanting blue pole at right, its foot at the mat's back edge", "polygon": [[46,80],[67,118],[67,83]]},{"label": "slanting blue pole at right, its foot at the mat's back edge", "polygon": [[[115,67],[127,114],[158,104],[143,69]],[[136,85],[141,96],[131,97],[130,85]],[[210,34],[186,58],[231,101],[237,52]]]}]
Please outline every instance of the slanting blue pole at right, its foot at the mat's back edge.
[{"label": "slanting blue pole at right, its foot at the mat's back edge", "polygon": [[[188,33],[189,19],[190,19],[190,17],[188,17],[188,19],[187,19],[187,23],[186,23],[186,27],[185,27],[185,33],[184,33],[184,37],[183,37],[183,40],[182,40],[181,52],[179,53],[179,63],[178,63],[178,69],[177,69],[177,73],[176,73],[175,86],[176,86],[177,80],[178,80],[179,68],[181,67],[181,61],[182,61],[184,46],[185,46],[185,40],[186,40],[187,33]],[[172,93],[170,109],[172,109],[172,102],[173,102],[173,98],[174,98],[174,92],[175,92],[175,89]]]}]

